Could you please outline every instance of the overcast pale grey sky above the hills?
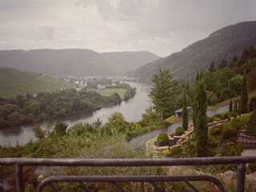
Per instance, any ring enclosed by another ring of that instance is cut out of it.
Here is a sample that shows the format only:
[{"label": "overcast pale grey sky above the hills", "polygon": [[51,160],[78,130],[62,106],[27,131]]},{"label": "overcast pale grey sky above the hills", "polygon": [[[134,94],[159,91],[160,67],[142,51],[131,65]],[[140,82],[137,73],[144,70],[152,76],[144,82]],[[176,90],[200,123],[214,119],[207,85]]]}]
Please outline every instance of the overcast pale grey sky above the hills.
[{"label": "overcast pale grey sky above the hills", "polygon": [[256,20],[255,0],[0,0],[0,50],[82,48],[165,57]]}]

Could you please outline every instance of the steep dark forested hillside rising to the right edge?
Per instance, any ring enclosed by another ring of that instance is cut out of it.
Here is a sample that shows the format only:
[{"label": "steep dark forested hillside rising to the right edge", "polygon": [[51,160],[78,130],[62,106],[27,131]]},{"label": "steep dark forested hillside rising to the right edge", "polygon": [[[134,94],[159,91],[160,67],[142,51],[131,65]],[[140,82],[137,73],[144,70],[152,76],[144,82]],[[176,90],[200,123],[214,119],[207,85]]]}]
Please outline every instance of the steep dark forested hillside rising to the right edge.
[{"label": "steep dark forested hillside rising to the right edge", "polygon": [[208,70],[211,62],[218,66],[223,58],[230,60],[235,54],[239,56],[249,46],[256,46],[256,22],[240,22],[217,30],[178,53],[130,71],[128,75],[141,82],[150,82],[161,67],[169,69],[174,78],[194,82],[197,71]]}]

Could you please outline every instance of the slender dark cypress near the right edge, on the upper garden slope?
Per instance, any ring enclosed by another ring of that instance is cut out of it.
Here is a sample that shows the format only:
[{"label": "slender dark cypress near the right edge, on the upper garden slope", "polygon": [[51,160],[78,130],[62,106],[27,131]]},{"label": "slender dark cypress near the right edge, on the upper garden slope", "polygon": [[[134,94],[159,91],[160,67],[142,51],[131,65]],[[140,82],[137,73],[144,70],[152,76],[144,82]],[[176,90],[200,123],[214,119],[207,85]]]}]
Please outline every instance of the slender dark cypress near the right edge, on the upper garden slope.
[{"label": "slender dark cypress near the right edge, on the upper garden slope", "polygon": [[242,79],[242,90],[241,90],[241,101],[240,101],[240,113],[246,114],[248,112],[248,89],[247,89],[247,77],[246,70],[243,71]]}]

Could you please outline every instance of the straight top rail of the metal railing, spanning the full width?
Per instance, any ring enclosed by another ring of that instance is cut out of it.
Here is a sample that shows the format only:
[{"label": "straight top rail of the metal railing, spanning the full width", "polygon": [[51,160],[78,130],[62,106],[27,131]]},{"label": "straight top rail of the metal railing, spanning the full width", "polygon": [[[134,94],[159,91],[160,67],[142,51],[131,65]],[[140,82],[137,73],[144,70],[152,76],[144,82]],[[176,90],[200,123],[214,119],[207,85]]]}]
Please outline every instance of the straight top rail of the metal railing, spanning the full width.
[{"label": "straight top rail of the metal railing, spanning the full width", "polygon": [[0,158],[2,166],[192,166],[256,162],[256,156],[221,158]]}]

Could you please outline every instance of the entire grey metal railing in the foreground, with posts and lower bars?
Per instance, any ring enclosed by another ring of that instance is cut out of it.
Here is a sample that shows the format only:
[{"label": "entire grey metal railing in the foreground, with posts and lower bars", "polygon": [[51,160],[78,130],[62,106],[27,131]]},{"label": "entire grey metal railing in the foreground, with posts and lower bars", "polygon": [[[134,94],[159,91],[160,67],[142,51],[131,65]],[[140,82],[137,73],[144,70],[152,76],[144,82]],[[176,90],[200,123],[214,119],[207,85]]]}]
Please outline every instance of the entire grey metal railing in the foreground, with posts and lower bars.
[{"label": "entire grey metal railing in the foreground, with posts and lower bars", "polygon": [[[166,159],[78,159],[78,158],[0,158],[1,166],[15,166],[16,186],[18,192],[24,192],[22,167],[23,166],[207,166],[237,164],[237,191],[245,189],[246,163],[255,163],[254,157],[222,157],[222,158],[166,158]],[[225,191],[217,178],[209,175],[152,175],[152,176],[51,176],[42,180],[37,186],[37,192],[44,186],[51,186],[54,191],[59,191],[53,182],[78,182],[86,191],[90,190],[84,182],[108,182],[119,191],[122,189],[118,182],[149,182],[155,191],[164,191],[156,182],[185,182],[192,190],[198,191],[191,181],[212,182],[218,191]],[[4,187],[0,184],[0,190]]]}]

